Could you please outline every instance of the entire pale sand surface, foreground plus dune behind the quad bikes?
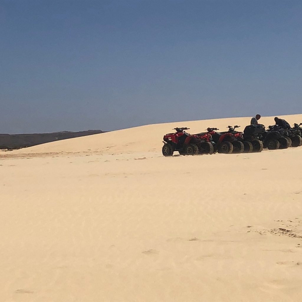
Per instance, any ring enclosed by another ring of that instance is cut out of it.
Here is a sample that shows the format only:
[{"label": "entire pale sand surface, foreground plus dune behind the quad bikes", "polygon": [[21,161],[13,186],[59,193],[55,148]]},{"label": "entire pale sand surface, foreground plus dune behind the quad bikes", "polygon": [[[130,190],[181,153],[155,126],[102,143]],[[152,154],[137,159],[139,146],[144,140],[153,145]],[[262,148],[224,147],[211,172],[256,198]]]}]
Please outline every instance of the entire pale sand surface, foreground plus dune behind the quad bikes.
[{"label": "entire pale sand surface, foreground plus dune behind the quad bikes", "polygon": [[0,301],[301,301],[302,147],[161,154],[174,127],[249,121],[0,152]]}]

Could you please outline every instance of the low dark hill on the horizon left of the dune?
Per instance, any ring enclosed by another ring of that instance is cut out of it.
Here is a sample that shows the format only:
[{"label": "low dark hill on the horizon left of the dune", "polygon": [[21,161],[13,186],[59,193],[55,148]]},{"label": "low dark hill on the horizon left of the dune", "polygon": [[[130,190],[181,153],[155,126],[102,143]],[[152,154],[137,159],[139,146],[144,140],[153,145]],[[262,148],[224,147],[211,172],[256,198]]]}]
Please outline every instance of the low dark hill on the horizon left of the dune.
[{"label": "low dark hill on the horizon left of the dune", "polygon": [[31,133],[31,134],[0,134],[0,149],[20,149],[56,140],[81,137],[86,135],[104,133],[102,130],[87,130],[79,132],[62,131],[53,133]]}]

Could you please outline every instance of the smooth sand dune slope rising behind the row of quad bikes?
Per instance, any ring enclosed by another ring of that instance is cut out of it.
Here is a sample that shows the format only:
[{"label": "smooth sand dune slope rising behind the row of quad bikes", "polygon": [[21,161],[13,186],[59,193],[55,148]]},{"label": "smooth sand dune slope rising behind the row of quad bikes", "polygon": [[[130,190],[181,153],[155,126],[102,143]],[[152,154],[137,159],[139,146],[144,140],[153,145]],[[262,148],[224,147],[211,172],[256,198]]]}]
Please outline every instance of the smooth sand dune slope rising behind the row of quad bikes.
[{"label": "smooth sand dune slope rising behind the row of quad bikes", "polygon": [[[302,114],[279,117],[285,118],[290,124],[300,123],[300,121],[302,121]],[[146,125],[47,143],[14,152],[18,154],[49,152],[101,152],[103,154],[111,154],[114,152],[121,154],[158,151],[162,147],[163,135],[173,132],[172,128],[190,127],[190,133],[199,133],[207,127],[217,127],[220,131],[226,131],[226,126],[228,125],[240,125],[239,131],[243,131],[244,127],[250,123],[250,120],[250,117],[232,117],[216,120],[196,120]],[[262,117],[259,122],[266,126],[275,124],[274,117]]]}]

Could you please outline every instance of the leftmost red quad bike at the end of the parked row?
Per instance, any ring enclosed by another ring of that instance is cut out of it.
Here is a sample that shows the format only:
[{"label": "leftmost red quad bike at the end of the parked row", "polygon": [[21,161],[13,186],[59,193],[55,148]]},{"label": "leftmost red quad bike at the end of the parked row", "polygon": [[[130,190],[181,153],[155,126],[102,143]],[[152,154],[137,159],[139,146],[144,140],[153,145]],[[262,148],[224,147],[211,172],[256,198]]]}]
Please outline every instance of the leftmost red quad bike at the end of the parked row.
[{"label": "leftmost red quad bike at the end of the parked row", "polygon": [[175,133],[168,133],[163,137],[163,156],[172,156],[174,151],[181,155],[212,154],[214,146],[210,142],[211,136],[204,134],[194,134],[185,132],[190,128],[174,128]]}]

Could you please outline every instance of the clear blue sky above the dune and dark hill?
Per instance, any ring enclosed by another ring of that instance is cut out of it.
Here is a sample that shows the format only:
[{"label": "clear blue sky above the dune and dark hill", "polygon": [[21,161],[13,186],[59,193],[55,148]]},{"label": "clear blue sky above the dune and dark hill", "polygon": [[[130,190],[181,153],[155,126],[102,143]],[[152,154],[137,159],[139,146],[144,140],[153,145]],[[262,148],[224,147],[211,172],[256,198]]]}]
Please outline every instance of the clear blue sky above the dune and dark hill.
[{"label": "clear blue sky above the dune and dark hill", "polygon": [[302,113],[301,56],[300,0],[0,0],[0,133]]}]

